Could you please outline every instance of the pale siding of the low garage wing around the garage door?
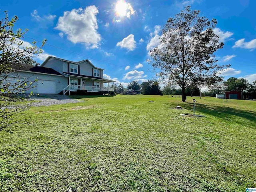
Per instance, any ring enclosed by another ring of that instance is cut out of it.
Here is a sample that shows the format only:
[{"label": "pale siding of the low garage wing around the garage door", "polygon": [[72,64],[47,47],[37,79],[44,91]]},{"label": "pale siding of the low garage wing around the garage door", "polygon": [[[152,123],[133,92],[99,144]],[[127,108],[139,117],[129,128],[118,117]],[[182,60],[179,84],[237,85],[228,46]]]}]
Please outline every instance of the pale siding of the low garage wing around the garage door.
[{"label": "pale siding of the low garage wing around the garage door", "polygon": [[[54,75],[48,75],[48,74],[34,74],[34,73],[29,73],[29,72],[18,72],[18,73],[13,73],[13,74],[9,74],[8,77],[10,78],[16,78],[16,79],[24,79],[24,78],[28,78],[29,82],[33,82],[34,80],[48,80],[48,81],[55,81],[55,93],[58,94],[59,92],[61,92],[63,90],[63,86],[68,86],[68,81],[66,77],[62,77],[62,76],[54,76]],[[14,80],[16,81],[16,80]],[[59,83],[60,82],[60,83]],[[34,82],[32,84],[32,86],[35,86],[27,91],[25,91],[25,93],[30,93],[31,91],[34,94],[37,94],[37,82]]]}]

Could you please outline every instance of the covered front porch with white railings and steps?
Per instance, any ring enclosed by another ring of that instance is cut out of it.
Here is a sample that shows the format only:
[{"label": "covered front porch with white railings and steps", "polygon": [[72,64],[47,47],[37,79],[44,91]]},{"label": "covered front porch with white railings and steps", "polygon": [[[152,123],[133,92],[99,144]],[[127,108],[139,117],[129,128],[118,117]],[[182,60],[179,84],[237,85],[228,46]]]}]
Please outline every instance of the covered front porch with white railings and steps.
[{"label": "covered front porch with white railings and steps", "polygon": [[[63,88],[63,94],[67,92],[76,92],[77,90],[86,90],[87,92],[114,92],[114,86],[110,87],[110,83],[113,80],[108,80],[104,78],[90,78],[81,75],[68,75],[68,86]],[[104,86],[107,84],[107,86]]]}]

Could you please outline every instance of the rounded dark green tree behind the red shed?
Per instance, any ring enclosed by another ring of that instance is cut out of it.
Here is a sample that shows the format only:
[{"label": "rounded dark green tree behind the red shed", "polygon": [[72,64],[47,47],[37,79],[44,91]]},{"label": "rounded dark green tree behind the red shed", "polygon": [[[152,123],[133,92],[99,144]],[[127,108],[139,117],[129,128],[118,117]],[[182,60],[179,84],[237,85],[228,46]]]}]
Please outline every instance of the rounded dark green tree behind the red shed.
[{"label": "rounded dark green tree behind the red shed", "polygon": [[244,91],[247,90],[249,83],[244,78],[230,77],[224,81],[223,85],[225,91]]}]

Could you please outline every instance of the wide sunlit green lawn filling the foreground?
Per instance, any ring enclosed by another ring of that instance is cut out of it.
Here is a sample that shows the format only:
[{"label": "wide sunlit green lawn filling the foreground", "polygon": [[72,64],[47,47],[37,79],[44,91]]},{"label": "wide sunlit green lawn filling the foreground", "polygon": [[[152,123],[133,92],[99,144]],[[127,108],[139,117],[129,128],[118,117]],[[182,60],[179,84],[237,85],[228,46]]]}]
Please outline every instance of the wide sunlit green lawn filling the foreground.
[{"label": "wide sunlit green lawn filling the foreground", "polygon": [[180,116],[194,97],[76,98],[30,108],[31,126],[0,132],[0,191],[256,188],[255,101],[196,97],[199,118]]}]

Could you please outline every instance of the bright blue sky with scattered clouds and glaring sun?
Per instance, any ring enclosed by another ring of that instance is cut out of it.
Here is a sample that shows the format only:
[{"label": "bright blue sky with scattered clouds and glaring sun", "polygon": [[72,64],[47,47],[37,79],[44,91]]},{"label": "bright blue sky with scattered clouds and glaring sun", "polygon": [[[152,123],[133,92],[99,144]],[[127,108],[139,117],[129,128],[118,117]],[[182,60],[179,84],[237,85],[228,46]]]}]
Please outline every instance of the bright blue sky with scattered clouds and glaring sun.
[{"label": "bright blue sky with scattered clouds and glaring sun", "polygon": [[168,18],[186,5],[217,19],[214,31],[224,48],[215,55],[219,64],[231,64],[222,76],[256,80],[255,0],[8,0],[0,4],[0,18],[5,10],[9,17],[18,16],[15,27],[29,29],[25,44],[47,39],[38,62],[48,55],[88,59],[105,69],[105,78],[127,86],[155,77],[148,52],[158,45]]}]

